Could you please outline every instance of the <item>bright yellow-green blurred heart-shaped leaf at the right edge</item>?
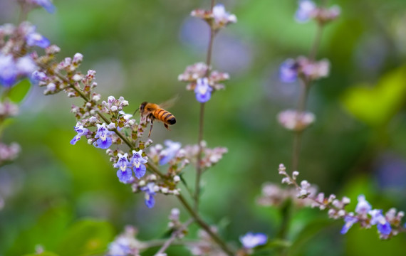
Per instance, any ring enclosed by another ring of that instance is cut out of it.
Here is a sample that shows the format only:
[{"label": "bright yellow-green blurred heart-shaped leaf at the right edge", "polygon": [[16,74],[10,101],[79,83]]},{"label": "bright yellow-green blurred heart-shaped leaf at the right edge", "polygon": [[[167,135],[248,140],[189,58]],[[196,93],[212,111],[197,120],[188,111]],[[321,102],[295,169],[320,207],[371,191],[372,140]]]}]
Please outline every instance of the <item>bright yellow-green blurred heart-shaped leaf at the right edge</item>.
[{"label": "bright yellow-green blurred heart-shaped leaf at the right edge", "polygon": [[406,67],[384,75],[374,87],[362,84],[348,88],[343,105],[350,114],[373,127],[387,124],[405,102]]}]

